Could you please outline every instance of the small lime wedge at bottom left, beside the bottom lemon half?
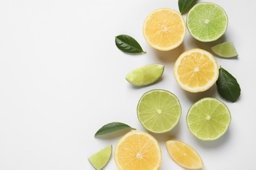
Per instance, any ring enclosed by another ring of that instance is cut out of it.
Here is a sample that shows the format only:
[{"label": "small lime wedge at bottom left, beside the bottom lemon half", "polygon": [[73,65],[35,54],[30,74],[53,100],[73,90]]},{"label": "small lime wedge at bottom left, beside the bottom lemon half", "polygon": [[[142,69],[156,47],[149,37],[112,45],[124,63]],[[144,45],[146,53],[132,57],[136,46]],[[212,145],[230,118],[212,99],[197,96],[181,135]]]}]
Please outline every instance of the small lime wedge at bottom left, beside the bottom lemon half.
[{"label": "small lime wedge at bottom left, beside the bottom lemon half", "polygon": [[110,160],[112,154],[112,145],[106,146],[102,150],[96,152],[88,158],[90,163],[95,167],[95,169],[99,170],[106,166],[108,161]]}]

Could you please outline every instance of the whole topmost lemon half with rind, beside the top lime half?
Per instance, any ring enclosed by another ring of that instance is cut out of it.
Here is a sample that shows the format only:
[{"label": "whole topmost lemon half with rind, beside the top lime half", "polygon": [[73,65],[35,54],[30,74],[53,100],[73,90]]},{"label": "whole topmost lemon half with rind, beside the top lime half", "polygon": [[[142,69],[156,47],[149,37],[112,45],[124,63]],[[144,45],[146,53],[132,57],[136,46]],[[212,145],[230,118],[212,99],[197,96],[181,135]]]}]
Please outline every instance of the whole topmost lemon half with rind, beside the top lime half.
[{"label": "whole topmost lemon half with rind, beside the top lime half", "polygon": [[157,9],[145,19],[143,35],[153,48],[162,51],[179,46],[186,35],[186,24],[181,13],[173,9]]}]

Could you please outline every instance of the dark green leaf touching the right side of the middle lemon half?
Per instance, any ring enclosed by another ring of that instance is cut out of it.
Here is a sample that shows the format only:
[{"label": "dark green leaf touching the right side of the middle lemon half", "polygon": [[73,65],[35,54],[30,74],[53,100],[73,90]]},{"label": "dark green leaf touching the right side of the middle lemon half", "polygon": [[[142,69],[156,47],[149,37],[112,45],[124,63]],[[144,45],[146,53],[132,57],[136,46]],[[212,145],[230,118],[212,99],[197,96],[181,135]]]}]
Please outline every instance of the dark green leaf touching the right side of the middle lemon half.
[{"label": "dark green leaf touching the right side of the middle lemon half", "polygon": [[240,96],[241,89],[236,78],[222,67],[219,69],[219,78],[216,84],[219,94],[224,99],[235,102]]}]

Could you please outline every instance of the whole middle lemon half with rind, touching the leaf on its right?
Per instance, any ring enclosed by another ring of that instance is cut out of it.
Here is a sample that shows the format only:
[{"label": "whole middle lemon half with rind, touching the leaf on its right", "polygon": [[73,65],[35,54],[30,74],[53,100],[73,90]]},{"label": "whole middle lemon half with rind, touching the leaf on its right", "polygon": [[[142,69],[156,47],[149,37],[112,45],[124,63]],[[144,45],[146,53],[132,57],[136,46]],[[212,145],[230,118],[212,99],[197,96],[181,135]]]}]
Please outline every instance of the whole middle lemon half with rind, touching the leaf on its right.
[{"label": "whole middle lemon half with rind, touching the leaf on its right", "polygon": [[182,89],[203,92],[217,81],[219,66],[211,53],[194,48],[179,56],[174,65],[174,76]]}]

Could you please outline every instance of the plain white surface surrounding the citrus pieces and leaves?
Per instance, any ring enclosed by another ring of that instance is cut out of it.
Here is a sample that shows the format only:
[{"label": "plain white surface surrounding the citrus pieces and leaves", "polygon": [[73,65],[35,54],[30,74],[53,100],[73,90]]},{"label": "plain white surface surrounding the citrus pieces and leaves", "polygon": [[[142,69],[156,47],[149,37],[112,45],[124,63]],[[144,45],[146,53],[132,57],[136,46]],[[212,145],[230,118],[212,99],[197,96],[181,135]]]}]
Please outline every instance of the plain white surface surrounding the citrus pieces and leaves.
[{"label": "plain white surface surrounding the citrus pieces and leaves", "polygon": [[[179,10],[176,0],[1,0],[0,169],[93,169],[87,158],[108,144],[115,146],[123,135],[95,138],[95,132],[110,122],[146,131],[136,107],[144,92],[156,88],[175,93],[182,106],[175,129],[153,134],[161,144],[161,170],[181,169],[167,154],[169,139],[194,147],[205,170],[255,169],[256,3],[211,2],[228,14],[224,37],[202,43],[187,32],[179,48],[160,52],[144,40],[142,24],[152,10]],[[119,34],[137,39],[147,53],[134,56],[118,50],[114,38]],[[209,50],[223,41],[234,42],[239,53],[237,59],[217,61],[237,78],[240,99],[224,101],[216,86],[196,94],[179,88],[173,76],[175,59],[184,50]],[[125,75],[150,63],[165,65],[162,80],[133,88]],[[186,112],[202,97],[217,97],[232,114],[227,133],[217,141],[199,141],[186,126]],[[117,169],[114,157],[106,169]]]}]

